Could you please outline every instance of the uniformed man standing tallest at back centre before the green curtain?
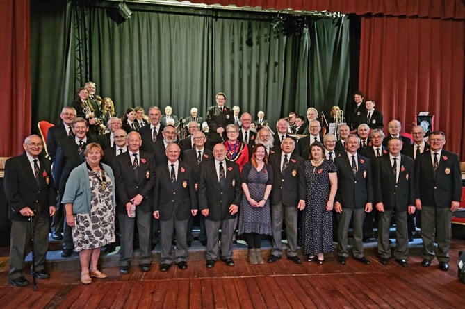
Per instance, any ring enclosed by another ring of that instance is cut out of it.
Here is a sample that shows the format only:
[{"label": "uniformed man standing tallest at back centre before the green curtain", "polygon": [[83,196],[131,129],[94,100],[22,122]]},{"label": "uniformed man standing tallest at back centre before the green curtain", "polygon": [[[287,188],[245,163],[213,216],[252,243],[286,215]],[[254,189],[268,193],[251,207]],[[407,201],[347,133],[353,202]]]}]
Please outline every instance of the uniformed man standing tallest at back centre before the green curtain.
[{"label": "uniformed man standing tallest at back centre before the green curtain", "polygon": [[218,92],[215,96],[216,105],[211,106],[206,112],[206,123],[209,125],[209,140],[212,144],[218,144],[227,140],[226,126],[234,124],[234,112],[225,106],[226,94]]}]

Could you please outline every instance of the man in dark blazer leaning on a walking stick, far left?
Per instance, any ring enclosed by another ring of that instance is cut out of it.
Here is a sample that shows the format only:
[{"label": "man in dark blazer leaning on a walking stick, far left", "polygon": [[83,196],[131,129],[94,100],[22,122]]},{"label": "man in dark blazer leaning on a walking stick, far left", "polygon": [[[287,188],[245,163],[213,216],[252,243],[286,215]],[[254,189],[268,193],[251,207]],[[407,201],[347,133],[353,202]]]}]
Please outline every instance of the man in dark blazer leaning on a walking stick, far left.
[{"label": "man in dark blazer leaning on a walking stick, far left", "polygon": [[26,137],[24,154],[6,160],[4,189],[11,220],[10,272],[8,281],[17,287],[28,285],[23,276],[26,248],[31,242],[31,222],[34,226],[36,278],[49,278],[45,258],[49,248],[49,217],[55,213],[56,190],[51,178],[50,161],[39,155],[44,149],[38,135]]}]

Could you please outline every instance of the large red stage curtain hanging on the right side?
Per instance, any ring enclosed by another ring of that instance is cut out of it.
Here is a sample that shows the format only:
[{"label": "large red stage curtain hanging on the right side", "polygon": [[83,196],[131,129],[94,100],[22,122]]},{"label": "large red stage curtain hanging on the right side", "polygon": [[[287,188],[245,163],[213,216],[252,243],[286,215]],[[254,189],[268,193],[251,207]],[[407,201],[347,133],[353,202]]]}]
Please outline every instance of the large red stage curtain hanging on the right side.
[{"label": "large red stage curtain hanging on the right side", "polygon": [[359,88],[377,101],[385,124],[398,119],[409,133],[414,116],[428,111],[446,148],[464,150],[464,35],[463,21],[362,18]]}]

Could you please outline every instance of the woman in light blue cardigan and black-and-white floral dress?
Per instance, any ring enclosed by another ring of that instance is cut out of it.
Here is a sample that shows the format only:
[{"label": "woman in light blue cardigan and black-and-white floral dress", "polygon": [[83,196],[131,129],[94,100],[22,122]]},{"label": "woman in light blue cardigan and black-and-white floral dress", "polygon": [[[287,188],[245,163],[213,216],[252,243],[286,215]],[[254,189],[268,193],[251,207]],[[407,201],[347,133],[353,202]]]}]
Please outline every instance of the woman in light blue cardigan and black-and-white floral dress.
[{"label": "woman in light blue cardigan and black-and-white floral dress", "polygon": [[79,252],[81,283],[89,284],[91,277],[106,278],[97,268],[100,249],[115,242],[115,176],[100,162],[104,151],[99,144],[88,144],[84,156],[85,162],[72,170],[61,202]]}]

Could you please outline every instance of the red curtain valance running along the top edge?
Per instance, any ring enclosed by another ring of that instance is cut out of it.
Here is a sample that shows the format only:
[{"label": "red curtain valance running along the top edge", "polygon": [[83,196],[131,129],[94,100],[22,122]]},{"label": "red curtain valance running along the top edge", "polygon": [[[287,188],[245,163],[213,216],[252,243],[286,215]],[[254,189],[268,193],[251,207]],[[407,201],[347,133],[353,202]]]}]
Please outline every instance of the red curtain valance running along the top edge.
[{"label": "red curtain valance running along the top edge", "polygon": [[[181,1],[181,0],[178,0]],[[190,0],[206,4],[235,4],[236,6],[261,6],[284,10],[329,10],[331,12],[383,14],[393,16],[419,16],[465,19],[462,0]]]}]

